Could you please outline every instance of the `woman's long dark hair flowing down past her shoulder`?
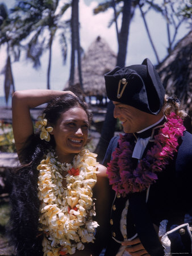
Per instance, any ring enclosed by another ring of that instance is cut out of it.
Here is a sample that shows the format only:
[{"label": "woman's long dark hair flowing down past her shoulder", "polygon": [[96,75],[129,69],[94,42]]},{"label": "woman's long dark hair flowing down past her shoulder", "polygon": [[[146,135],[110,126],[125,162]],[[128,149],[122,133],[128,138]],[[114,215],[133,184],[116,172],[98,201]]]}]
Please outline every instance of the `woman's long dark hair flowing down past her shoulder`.
[{"label": "woman's long dark hair flowing down past her shoulder", "polygon": [[[61,113],[74,107],[84,109],[89,122],[91,121],[91,113],[89,113],[85,102],[72,94],[64,94],[52,98],[44,109],[43,113],[45,113],[48,126],[56,124]],[[46,142],[40,139],[39,133],[32,135],[28,138],[27,146],[20,154],[22,166],[13,171],[10,176],[12,189],[9,234],[11,242],[16,248],[16,255],[43,255],[42,236],[38,233],[40,202],[37,197],[38,171],[36,167],[46,150],[54,146],[53,136],[50,142]]]}]

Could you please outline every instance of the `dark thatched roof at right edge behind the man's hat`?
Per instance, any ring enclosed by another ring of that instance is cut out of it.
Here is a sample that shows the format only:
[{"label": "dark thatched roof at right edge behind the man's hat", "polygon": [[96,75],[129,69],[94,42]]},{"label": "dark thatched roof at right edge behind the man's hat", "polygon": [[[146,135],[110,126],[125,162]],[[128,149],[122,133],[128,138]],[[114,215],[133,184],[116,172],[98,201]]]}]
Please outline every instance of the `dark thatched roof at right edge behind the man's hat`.
[{"label": "dark thatched roof at right edge behind the man's hat", "polygon": [[192,115],[192,31],[174,47],[157,67],[166,92],[177,96]]}]

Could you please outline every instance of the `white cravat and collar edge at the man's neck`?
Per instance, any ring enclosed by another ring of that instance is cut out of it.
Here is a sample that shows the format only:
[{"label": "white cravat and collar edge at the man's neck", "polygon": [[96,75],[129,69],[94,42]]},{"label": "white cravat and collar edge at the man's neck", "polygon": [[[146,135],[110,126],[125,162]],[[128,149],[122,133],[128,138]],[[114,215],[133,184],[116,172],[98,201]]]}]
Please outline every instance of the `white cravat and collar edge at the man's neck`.
[{"label": "white cravat and collar edge at the man's neck", "polygon": [[[148,126],[147,128],[145,128],[141,131],[137,131],[137,134],[143,133],[143,131],[146,131],[146,130],[152,128],[153,126],[158,125],[158,123],[160,123],[163,119],[164,119],[164,116],[160,120],[158,120],[156,123],[153,123],[153,125],[150,125],[150,126]],[[137,158],[137,159],[142,158],[143,152],[144,152],[145,147],[147,146],[150,138],[151,137],[148,137],[148,138],[145,138],[145,139],[137,138],[137,142],[136,142],[134,150],[133,150],[132,158]]]}]

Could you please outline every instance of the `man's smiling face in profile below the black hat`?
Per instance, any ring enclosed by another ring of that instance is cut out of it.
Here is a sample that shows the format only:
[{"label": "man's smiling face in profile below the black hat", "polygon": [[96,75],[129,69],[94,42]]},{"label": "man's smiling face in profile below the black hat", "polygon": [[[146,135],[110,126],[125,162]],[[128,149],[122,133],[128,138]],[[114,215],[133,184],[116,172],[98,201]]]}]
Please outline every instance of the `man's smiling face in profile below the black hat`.
[{"label": "man's smiling face in profile below the black hat", "polygon": [[114,117],[122,122],[125,133],[136,133],[148,126],[151,114],[120,102],[113,101],[113,104],[115,105]]}]

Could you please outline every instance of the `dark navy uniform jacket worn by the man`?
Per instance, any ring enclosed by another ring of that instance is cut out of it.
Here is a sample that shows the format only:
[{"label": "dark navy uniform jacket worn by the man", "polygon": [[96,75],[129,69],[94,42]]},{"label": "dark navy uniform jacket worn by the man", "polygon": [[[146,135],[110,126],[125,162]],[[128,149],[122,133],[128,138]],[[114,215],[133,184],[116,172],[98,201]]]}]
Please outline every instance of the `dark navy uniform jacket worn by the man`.
[{"label": "dark navy uniform jacket worn by the man", "polygon": [[[111,139],[103,160],[105,166],[110,162],[112,151],[118,146],[118,139],[119,137]],[[152,146],[153,143],[149,142],[143,156]],[[130,204],[126,216],[128,238],[137,233],[150,255],[164,255],[164,247],[153,224],[159,226],[162,220],[168,220],[166,232],[171,241],[171,253],[192,255],[192,135],[190,133],[184,132],[174,159],[170,160],[165,170],[158,174],[156,183],[149,188],[147,203],[145,203],[146,191],[132,193],[126,198],[116,197],[115,210],[111,209],[111,236],[115,236],[118,241],[124,240],[120,233],[119,222],[127,199]],[[111,238],[105,255],[115,255],[119,246],[120,243]]]}]

